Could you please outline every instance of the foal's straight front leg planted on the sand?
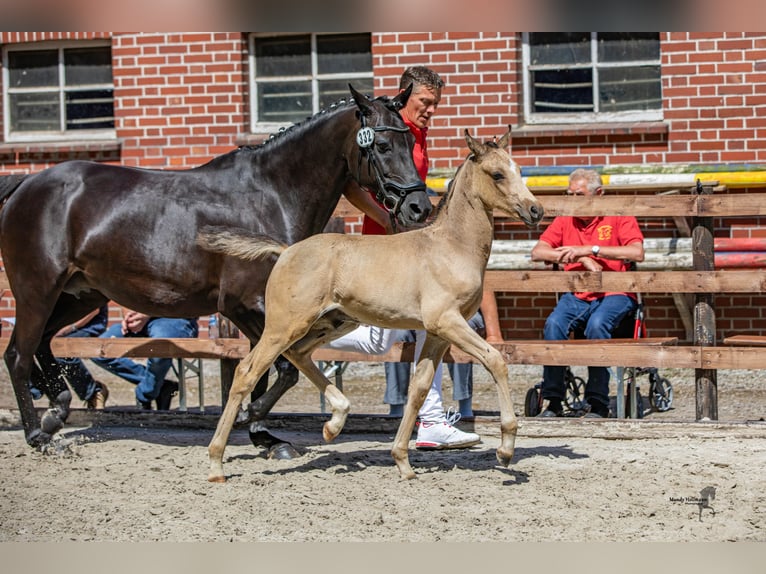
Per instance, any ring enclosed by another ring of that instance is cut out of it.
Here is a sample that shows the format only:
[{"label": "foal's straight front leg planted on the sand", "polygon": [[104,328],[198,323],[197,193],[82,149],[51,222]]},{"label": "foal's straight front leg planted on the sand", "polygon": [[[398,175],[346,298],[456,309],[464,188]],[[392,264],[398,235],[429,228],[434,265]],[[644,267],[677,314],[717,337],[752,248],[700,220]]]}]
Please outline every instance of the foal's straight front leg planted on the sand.
[{"label": "foal's straight front leg planted on the sand", "polygon": [[415,478],[415,472],[410,466],[409,444],[412,431],[415,428],[415,421],[418,418],[420,407],[426,400],[426,395],[431,388],[431,382],[436,372],[439,361],[442,360],[447,351],[449,343],[443,339],[435,337],[428,333],[426,335],[423,350],[415,368],[415,375],[410,381],[410,389],[407,393],[407,404],[404,407],[402,422],[399,423],[399,430],[394,437],[394,446],[391,448],[391,456],[394,458],[399,475],[402,478]]}]

